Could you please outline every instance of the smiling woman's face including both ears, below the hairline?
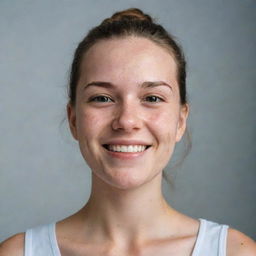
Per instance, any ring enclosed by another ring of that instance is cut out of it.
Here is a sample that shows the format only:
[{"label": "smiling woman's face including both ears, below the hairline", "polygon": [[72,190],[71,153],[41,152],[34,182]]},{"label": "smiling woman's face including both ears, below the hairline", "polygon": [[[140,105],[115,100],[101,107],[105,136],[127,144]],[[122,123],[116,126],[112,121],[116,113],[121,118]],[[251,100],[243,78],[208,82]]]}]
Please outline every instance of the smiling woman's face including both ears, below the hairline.
[{"label": "smiling woman's face including both ears, below the hairline", "polygon": [[171,54],[146,38],[96,43],[85,54],[72,134],[93,173],[121,189],[162,174],[186,127]]}]

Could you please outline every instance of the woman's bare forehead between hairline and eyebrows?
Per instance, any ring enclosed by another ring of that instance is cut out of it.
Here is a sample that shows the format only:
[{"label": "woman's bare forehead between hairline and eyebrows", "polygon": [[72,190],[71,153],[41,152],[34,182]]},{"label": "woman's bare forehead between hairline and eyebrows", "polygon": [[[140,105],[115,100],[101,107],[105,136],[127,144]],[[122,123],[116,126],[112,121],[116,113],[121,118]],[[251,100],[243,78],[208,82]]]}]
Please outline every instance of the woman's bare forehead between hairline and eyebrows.
[{"label": "woman's bare forehead between hairline and eyebrows", "polygon": [[[80,81],[176,80],[171,53],[147,38],[128,36],[102,40],[84,55]],[[173,81],[172,81],[173,82]]]}]

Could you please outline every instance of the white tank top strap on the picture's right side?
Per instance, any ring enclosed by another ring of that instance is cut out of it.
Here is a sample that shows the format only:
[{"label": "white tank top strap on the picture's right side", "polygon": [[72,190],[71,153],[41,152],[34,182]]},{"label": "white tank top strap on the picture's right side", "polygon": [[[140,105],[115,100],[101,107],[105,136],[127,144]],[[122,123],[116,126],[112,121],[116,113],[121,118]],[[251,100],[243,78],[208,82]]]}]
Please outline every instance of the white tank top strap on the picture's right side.
[{"label": "white tank top strap on the picture's right side", "polygon": [[227,225],[200,220],[200,228],[192,256],[226,256]]}]

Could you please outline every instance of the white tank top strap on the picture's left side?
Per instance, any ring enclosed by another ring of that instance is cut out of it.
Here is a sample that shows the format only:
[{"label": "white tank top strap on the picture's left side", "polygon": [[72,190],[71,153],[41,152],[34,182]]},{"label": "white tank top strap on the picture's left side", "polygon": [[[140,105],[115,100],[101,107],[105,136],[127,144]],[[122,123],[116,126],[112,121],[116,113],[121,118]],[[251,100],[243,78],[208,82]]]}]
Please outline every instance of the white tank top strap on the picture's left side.
[{"label": "white tank top strap on the picture's left side", "polygon": [[56,223],[28,229],[25,233],[25,256],[61,256],[57,244]]}]

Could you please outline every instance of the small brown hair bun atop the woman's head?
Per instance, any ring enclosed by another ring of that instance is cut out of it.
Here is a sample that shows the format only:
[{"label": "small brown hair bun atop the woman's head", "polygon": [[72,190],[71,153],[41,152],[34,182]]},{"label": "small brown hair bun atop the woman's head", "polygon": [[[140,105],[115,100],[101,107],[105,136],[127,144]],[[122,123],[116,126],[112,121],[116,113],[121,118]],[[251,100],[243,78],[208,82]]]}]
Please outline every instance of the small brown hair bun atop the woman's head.
[{"label": "small brown hair bun atop the woman's head", "polygon": [[122,20],[140,20],[140,21],[148,21],[153,22],[152,18],[142,12],[138,8],[130,8],[123,10],[121,12],[114,13],[111,18],[105,20],[105,22],[113,22],[113,21],[122,21]]}]

